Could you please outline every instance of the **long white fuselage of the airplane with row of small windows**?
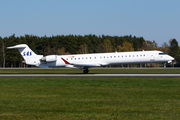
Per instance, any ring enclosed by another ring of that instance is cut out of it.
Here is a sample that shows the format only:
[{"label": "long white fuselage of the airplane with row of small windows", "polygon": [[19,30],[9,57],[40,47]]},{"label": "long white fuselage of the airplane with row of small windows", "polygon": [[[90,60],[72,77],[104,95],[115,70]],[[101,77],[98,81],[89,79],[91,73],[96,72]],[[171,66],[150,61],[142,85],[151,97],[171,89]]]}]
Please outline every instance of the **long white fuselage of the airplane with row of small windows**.
[{"label": "long white fuselage of the airplane with row of small windows", "polygon": [[[173,57],[161,51],[57,55],[56,58],[54,62],[41,62],[39,67],[101,67],[118,64],[170,62],[174,60]],[[70,64],[66,64],[62,58]]]}]

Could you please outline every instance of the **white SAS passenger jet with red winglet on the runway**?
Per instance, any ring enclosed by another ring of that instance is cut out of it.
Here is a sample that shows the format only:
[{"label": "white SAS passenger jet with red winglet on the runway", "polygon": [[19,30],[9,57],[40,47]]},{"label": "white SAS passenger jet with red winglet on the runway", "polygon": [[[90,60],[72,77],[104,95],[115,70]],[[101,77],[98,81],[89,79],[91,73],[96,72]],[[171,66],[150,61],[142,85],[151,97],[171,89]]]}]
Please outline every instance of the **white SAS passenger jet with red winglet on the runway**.
[{"label": "white SAS passenger jet with red winglet on the runway", "polygon": [[89,72],[88,68],[104,67],[119,64],[141,64],[141,63],[170,63],[173,57],[161,51],[133,51],[133,52],[111,52],[93,54],[73,55],[37,55],[26,44],[8,47],[18,49],[27,65],[43,68],[78,68],[84,69],[83,73]]}]

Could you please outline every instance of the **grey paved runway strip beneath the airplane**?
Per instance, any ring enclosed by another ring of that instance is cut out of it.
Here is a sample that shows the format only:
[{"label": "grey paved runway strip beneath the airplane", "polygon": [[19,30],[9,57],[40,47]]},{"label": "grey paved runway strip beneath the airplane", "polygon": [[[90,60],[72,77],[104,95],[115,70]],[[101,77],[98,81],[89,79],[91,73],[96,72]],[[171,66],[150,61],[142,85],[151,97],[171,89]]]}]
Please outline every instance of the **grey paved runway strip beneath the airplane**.
[{"label": "grey paved runway strip beneath the airplane", "polygon": [[1,73],[0,77],[180,77],[180,74]]}]

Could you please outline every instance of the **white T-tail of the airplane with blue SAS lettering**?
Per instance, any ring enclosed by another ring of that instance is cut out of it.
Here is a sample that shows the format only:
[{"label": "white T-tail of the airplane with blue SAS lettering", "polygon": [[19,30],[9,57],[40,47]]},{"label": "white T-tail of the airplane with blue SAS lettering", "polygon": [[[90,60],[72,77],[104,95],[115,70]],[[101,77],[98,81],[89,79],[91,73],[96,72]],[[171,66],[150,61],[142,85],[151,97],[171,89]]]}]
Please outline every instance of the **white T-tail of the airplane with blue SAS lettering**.
[{"label": "white T-tail of the airplane with blue SAS lettering", "polygon": [[37,55],[36,53],[34,53],[26,44],[11,46],[8,47],[8,49],[18,49],[25,60],[24,63],[28,65],[39,66],[40,59],[43,57],[43,55]]}]

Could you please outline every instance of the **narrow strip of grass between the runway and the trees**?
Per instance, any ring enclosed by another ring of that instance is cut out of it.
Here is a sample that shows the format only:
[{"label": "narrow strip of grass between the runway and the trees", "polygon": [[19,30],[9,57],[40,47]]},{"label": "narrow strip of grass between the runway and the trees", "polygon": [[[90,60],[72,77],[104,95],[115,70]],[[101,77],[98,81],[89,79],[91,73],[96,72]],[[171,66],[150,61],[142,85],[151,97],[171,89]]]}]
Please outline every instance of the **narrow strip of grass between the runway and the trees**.
[{"label": "narrow strip of grass between the runway and the trees", "polygon": [[[79,69],[0,69],[0,73],[83,73]],[[179,68],[90,68],[89,73],[180,73]]]}]

